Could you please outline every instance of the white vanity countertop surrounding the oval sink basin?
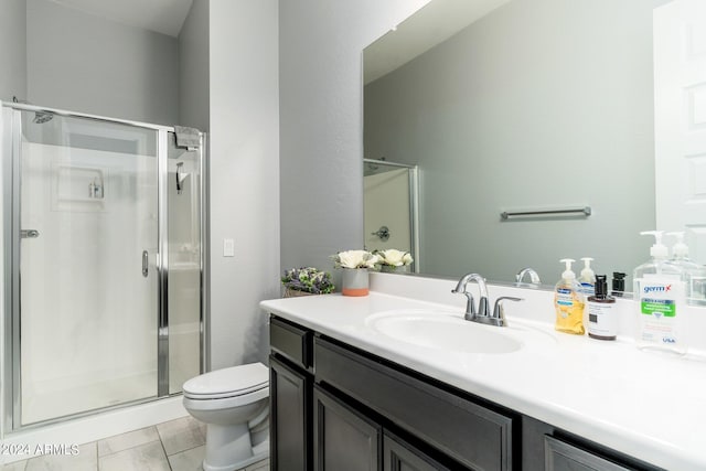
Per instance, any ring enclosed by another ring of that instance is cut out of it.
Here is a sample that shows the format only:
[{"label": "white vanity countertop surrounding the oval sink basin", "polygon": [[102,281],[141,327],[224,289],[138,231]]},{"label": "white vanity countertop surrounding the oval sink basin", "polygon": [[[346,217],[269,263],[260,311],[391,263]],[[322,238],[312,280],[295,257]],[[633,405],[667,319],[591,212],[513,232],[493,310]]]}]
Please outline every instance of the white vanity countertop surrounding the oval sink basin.
[{"label": "white vanity countertop surrounding the oval sink basin", "polygon": [[[448,281],[434,282],[446,290]],[[500,293],[501,288],[490,289],[491,301],[507,295]],[[550,292],[528,295],[544,299]],[[507,315],[511,328],[542,331],[541,335],[552,340],[503,354],[421,347],[384,335],[366,322],[371,315],[399,309],[461,317],[458,302],[371,291],[362,298],[325,295],[268,300],[260,306],[266,312],[657,467],[706,469],[706,362],[700,356],[642,352],[623,336],[606,342],[555,332],[549,322],[552,304],[547,315],[532,320],[512,312]],[[528,306],[536,310],[536,302]],[[534,345],[530,342],[528,346],[531,343]]]}]

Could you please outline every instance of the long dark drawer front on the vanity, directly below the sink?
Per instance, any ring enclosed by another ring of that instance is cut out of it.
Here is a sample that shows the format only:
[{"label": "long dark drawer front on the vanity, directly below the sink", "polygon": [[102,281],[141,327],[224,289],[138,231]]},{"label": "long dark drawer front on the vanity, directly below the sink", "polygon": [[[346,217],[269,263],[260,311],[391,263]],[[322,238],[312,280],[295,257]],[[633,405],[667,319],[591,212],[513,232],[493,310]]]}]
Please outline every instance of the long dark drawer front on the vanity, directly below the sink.
[{"label": "long dark drawer front on the vanity, directly below the sink", "polygon": [[512,418],[314,339],[314,378],[472,469],[512,470]]}]

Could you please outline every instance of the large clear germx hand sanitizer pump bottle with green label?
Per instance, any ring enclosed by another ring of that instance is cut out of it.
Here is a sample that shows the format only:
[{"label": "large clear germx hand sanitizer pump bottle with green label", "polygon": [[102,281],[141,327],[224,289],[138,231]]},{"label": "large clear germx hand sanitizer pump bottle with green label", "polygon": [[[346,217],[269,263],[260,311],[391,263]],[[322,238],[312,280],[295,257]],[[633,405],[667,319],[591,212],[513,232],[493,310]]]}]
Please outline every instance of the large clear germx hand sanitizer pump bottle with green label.
[{"label": "large clear germx hand sanitizer pump bottle with green label", "polygon": [[662,231],[646,231],[655,244],[652,258],[634,270],[633,291],[637,307],[635,342],[643,350],[677,354],[686,353],[681,336],[686,301],[684,270],[667,260],[667,248],[662,244]]}]

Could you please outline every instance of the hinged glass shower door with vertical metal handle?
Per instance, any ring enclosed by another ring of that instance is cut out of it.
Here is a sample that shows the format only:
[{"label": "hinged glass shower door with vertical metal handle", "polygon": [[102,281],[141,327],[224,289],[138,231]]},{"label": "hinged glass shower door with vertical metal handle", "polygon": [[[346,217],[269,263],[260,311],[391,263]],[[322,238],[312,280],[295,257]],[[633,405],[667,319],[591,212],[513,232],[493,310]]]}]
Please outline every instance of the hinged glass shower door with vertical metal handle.
[{"label": "hinged glass shower door with vertical metal handle", "polygon": [[158,131],[15,113],[15,424],[156,397]]}]

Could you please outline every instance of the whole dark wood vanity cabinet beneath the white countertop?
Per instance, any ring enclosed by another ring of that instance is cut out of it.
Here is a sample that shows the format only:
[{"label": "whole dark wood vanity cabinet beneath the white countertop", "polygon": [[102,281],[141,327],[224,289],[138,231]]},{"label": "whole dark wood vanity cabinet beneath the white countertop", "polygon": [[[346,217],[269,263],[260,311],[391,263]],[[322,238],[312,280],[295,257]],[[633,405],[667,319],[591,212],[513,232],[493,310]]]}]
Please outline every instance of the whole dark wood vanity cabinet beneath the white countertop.
[{"label": "whole dark wood vanity cabinet beneath the white countertop", "polygon": [[657,470],[277,317],[270,344],[272,470]]}]

